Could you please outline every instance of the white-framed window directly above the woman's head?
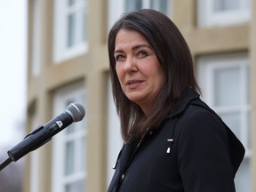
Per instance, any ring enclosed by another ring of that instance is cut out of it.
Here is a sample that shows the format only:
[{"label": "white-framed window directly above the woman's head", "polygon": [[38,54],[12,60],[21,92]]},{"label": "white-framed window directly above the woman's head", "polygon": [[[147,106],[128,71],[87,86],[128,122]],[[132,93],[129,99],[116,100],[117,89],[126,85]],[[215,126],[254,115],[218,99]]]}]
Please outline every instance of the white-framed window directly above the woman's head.
[{"label": "white-framed window directly above the woman's head", "polygon": [[111,28],[124,12],[132,12],[142,8],[155,9],[169,17],[172,16],[172,0],[109,0],[108,28]]}]

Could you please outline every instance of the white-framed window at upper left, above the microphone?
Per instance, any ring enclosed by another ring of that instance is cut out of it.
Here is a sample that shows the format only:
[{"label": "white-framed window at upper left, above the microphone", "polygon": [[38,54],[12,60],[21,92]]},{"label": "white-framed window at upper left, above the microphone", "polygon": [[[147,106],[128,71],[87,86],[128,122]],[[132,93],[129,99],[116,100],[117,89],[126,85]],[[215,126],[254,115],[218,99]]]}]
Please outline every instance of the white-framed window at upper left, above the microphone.
[{"label": "white-framed window at upper left, above the microphone", "polygon": [[54,61],[67,60],[86,52],[87,0],[54,1]]}]

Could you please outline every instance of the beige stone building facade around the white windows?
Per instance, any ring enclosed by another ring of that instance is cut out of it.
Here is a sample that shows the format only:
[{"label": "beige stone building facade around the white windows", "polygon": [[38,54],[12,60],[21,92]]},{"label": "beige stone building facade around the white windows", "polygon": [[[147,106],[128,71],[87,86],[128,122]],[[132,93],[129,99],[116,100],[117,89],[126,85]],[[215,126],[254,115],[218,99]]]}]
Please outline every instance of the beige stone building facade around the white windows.
[{"label": "beige stone building facade around the white windows", "polygon": [[[40,0],[41,28],[41,72],[31,76],[32,57],[32,0],[28,0],[28,121],[36,112],[39,123],[52,118],[52,92],[65,85],[82,81],[87,90],[88,108],[86,124],[88,130],[88,182],[86,191],[106,191],[107,143],[107,74],[108,74],[108,1],[89,0],[89,52],[54,65],[52,61],[53,1]],[[196,28],[196,0],[174,0],[173,21],[185,36],[191,52],[197,56],[222,52],[249,52],[252,90],[252,151],[256,141],[256,3],[252,1],[252,21],[239,26],[225,28]],[[51,191],[52,143],[38,149],[38,192]],[[30,185],[30,155],[25,157],[24,192]],[[252,180],[256,180],[256,157],[252,154]],[[256,191],[255,183],[253,190]],[[34,191],[33,191],[34,192]]]}]

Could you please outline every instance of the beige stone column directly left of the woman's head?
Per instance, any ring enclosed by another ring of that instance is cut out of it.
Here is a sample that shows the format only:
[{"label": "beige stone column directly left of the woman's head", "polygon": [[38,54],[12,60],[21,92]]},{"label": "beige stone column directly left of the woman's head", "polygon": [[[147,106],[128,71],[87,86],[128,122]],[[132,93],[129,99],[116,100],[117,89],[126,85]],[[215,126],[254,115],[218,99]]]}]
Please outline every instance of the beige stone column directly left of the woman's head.
[{"label": "beige stone column directly left of the woman's head", "polygon": [[[87,191],[106,191],[106,108],[104,71],[102,65],[108,62],[106,46],[107,1],[89,0],[88,29],[89,52],[86,68],[86,85],[88,90],[88,178]],[[105,52],[103,52],[106,51]]]}]

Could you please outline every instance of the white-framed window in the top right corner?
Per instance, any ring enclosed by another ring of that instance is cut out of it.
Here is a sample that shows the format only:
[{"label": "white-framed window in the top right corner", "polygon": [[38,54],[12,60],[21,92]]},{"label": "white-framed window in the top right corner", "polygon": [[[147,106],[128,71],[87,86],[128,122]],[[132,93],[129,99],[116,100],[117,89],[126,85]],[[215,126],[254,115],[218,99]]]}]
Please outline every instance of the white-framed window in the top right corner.
[{"label": "white-framed window in the top right corner", "polygon": [[199,27],[234,25],[250,19],[251,0],[197,0]]}]

